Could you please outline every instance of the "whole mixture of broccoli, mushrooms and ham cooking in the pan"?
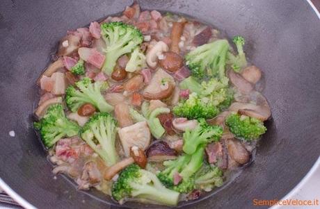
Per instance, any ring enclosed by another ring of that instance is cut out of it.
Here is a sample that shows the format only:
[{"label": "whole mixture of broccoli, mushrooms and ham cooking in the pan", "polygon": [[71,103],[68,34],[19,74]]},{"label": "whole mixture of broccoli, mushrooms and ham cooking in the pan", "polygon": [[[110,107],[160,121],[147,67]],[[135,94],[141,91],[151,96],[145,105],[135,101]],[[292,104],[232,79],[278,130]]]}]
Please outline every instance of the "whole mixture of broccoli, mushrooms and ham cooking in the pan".
[{"label": "whole mixture of broccoli, mushrooms and ham cooking in the pan", "polygon": [[67,31],[35,110],[54,174],[119,203],[175,206],[221,187],[271,116],[244,45],[137,3]]}]

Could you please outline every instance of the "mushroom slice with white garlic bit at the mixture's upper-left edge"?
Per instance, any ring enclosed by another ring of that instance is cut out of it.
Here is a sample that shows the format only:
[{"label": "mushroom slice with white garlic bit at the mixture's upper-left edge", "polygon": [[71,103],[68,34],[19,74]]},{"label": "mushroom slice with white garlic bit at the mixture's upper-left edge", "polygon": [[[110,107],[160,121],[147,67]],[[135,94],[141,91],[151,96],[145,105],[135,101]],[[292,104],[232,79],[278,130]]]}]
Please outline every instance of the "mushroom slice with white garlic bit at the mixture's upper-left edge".
[{"label": "mushroom slice with white garlic bit at the mixture's upper-left edge", "polygon": [[58,56],[69,56],[80,47],[80,37],[77,35],[67,35],[60,40],[58,46]]}]

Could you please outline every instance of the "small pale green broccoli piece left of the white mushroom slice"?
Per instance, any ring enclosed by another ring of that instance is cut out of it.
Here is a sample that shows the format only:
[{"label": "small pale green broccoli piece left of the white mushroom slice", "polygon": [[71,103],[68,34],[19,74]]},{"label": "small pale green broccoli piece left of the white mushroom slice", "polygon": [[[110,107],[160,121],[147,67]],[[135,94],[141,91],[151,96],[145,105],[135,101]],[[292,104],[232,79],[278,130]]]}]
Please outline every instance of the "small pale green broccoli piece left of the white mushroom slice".
[{"label": "small pale green broccoli piece left of the white mushroom slice", "polygon": [[129,62],[127,62],[125,70],[127,72],[135,72],[136,70],[141,70],[145,67],[147,67],[147,64],[145,63],[145,55],[137,47],[131,53],[131,57]]}]

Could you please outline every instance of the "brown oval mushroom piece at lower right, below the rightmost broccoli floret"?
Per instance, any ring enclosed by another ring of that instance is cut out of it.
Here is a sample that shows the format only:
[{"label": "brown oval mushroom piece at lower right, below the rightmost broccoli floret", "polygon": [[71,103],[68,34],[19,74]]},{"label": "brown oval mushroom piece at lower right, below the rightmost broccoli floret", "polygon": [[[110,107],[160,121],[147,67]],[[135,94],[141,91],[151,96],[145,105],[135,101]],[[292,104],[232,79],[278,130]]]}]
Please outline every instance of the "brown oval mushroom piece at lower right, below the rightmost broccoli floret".
[{"label": "brown oval mushroom piece at lower right, below the rightmost broccoli floret", "polygon": [[239,140],[227,140],[227,152],[233,160],[243,165],[250,160],[250,153]]}]

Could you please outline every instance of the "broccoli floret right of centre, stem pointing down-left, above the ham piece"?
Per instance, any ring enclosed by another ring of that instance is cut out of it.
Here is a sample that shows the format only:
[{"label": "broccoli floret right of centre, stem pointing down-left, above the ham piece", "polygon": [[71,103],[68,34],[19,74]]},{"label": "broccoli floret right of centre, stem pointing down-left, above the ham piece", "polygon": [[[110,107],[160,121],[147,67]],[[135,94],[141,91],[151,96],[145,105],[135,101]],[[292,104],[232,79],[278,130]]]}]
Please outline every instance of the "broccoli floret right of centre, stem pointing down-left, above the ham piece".
[{"label": "broccoli floret right of centre, stem pointing down-left, above the ham piece", "polygon": [[205,119],[199,119],[198,125],[193,130],[186,130],[183,134],[183,150],[187,154],[192,154],[196,149],[209,142],[218,142],[223,134],[221,126],[210,126]]}]

